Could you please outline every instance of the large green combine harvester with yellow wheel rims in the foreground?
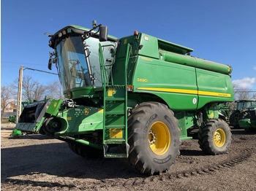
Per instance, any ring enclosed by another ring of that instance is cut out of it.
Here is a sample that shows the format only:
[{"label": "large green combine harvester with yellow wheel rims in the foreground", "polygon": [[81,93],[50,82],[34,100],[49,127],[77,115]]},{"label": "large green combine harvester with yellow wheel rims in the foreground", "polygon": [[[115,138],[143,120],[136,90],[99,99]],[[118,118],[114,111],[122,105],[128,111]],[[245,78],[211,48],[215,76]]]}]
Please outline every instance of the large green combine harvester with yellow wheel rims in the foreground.
[{"label": "large green combine harvester with yellow wheel rims in the foreground", "polygon": [[209,155],[230,147],[218,105],[233,101],[230,66],[148,34],[117,39],[106,26],[67,26],[49,35],[65,99],[27,105],[16,129],[69,144],[82,157],[124,158],[141,174],[168,171],[181,140],[198,130]]}]

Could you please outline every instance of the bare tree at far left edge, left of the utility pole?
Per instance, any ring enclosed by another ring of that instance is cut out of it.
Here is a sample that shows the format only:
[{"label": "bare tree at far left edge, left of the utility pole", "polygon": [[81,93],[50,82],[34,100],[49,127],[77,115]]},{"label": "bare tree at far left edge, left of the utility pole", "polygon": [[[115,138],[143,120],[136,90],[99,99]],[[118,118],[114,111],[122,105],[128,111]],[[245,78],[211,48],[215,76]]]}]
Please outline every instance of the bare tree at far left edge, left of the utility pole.
[{"label": "bare tree at far left edge, left of the utility pole", "polygon": [[15,97],[15,91],[10,85],[1,85],[1,120],[4,116],[4,110],[7,109]]}]

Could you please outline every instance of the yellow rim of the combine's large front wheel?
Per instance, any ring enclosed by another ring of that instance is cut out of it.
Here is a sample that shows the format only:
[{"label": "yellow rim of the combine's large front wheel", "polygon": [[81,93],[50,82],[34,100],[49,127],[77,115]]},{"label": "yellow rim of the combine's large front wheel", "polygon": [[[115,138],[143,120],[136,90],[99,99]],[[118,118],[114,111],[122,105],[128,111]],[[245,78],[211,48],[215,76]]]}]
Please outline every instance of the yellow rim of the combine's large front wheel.
[{"label": "yellow rim of the combine's large front wheel", "polygon": [[170,130],[163,122],[154,122],[148,133],[148,144],[156,155],[165,155],[170,147]]}]

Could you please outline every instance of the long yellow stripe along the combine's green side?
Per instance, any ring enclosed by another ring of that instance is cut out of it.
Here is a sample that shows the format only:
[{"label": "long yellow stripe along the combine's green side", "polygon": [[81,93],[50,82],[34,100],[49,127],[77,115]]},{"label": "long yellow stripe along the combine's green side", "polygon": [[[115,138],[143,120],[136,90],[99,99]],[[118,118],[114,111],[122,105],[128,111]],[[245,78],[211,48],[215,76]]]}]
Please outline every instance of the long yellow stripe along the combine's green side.
[{"label": "long yellow stripe along the combine's green side", "polygon": [[198,94],[198,95],[211,95],[217,97],[230,98],[230,93],[217,93],[217,92],[207,92],[207,91],[197,91],[197,90],[184,90],[184,89],[173,89],[173,88],[158,88],[158,87],[138,87],[138,90],[151,90],[159,92],[170,92],[170,93],[188,93],[188,94]]}]

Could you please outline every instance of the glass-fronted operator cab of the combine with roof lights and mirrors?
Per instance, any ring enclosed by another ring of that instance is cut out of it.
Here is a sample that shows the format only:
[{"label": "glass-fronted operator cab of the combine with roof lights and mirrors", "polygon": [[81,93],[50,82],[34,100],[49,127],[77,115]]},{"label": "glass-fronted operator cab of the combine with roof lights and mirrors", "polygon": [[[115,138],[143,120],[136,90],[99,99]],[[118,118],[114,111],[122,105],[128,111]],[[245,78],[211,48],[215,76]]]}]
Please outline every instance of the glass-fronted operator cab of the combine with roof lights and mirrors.
[{"label": "glass-fronted operator cab of the combine with roof lights and mirrors", "polygon": [[[94,31],[96,28],[99,30]],[[80,90],[93,94],[91,89],[102,87],[99,44],[102,46],[105,69],[110,77],[117,41],[116,37],[107,35],[105,26],[97,26],[96,23],[91,30],[67,26],[51,36],[49,46],[54,52],[50,52],[48,68],[51,69],[51,64],[56,63],[65,97],[76,98],[77,94],[73,92]],[[83,92],[83,95],[87,93]]]}]

